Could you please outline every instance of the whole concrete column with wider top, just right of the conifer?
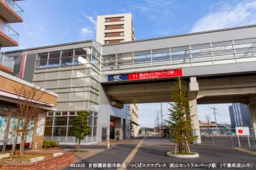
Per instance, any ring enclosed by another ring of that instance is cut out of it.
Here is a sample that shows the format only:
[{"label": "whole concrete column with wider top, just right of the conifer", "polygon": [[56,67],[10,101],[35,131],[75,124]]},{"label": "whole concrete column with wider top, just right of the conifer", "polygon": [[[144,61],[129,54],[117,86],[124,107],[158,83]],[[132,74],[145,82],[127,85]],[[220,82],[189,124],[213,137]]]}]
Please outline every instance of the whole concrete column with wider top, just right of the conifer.
[{"label": "whole concrete column with wider top, just right of the conifer", "polygon": [[198,102],[196,98],[198,96],[199,85],[197,82],[196,77],[189,78],[189,86],[188,86],[188,97],[189,97],[189,107],[190,107],[190,114],[192,116],[192,121],[194,124],[193,127],[193,136],[198,136],[198,139],[195,140],[195,143],[201,143],[201,136],[200,136],[200,127],[198,121]]}]

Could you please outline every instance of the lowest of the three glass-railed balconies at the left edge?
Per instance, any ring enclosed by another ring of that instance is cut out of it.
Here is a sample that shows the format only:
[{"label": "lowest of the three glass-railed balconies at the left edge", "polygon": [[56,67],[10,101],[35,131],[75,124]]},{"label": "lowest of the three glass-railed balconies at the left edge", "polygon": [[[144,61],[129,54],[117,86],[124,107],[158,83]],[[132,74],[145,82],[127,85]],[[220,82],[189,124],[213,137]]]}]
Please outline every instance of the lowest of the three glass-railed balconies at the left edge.
[{"label": "lowest of the three glass-railed balconies at the left edge", "polygon": [[7,72],[7,73],[13,73],[13,65],[14,65],[14,60],[5,56],[0,51],[0,71]]}]

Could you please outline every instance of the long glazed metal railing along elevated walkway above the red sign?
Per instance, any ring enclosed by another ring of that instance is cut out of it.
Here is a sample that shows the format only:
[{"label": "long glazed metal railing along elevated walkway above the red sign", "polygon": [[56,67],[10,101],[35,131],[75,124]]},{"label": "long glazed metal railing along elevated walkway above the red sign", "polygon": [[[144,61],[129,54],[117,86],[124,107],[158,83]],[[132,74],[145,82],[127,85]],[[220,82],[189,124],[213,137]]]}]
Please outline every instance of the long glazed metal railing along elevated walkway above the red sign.
[{"label": "long glazed metal railing along elevated walkway above the red sign", "polygon": [[192,45],[168,48],[167,51],[144,51],[136,54],[109,54],[102,56],[101,69],[103,75],[116,74],[118,72],[142,72],[154,69],[175,69],[193,66],[210,66],[227,63],[243,63],[256,60],[256,39],[247,42],[231,42],[229,45],[214,46],[209,48],[195,48]]}]

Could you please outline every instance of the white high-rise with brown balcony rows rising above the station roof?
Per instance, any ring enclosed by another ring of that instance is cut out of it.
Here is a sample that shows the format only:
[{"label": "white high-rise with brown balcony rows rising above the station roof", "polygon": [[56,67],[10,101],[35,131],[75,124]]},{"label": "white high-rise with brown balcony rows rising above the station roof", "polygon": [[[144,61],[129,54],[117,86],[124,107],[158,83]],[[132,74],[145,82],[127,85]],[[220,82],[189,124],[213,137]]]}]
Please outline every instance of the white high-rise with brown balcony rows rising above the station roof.
[{"label": "white high-rise with brown balcony rows rising above the station roof", "polygon": [[114,44],[135,40],[131,13],[97,17],[96,41]]}]

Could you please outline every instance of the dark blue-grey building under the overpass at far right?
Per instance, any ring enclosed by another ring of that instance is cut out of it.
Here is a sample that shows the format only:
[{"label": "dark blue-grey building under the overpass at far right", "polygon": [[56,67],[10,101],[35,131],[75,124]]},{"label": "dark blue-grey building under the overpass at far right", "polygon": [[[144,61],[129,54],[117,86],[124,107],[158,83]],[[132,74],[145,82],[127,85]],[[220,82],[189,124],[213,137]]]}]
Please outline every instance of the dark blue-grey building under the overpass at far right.
[{"label": "dark blue-grey building under the overpass at far right", "polygon": [[245,104],[232,104],[228,107],[231,116],[231,127],[251,127],[249,110]]}]

